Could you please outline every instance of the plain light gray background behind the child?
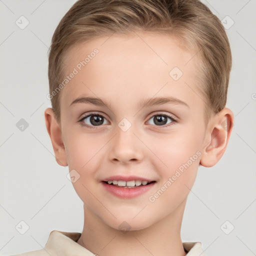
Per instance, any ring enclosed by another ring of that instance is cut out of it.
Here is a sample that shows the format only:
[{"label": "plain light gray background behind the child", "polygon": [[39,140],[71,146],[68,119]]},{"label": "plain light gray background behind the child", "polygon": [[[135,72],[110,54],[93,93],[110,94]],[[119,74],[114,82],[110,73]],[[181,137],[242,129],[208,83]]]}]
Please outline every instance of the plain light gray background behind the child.
[{"label": "plain light gray background behind the child", "polygon": [[[47,50],[74,2],[0,0],[1,255],[41,249],[54,229],[82,231],[82,201],[66,177],[68,167],[55,161],[43,116],[51,106]],[[256,255],[256,0],[202,2],[220,20],[234,21],[226,29],[233,58],[226,106],[235,119],[223,157],[198,170],[181,238],[201,241],[207,256]],[[15,24],[21,15],[29,21],[24,29]],[[21,118],[29,124],[23,131],[16,127]],[[24,234],[15,229],[21,220],[29,226]]]}]

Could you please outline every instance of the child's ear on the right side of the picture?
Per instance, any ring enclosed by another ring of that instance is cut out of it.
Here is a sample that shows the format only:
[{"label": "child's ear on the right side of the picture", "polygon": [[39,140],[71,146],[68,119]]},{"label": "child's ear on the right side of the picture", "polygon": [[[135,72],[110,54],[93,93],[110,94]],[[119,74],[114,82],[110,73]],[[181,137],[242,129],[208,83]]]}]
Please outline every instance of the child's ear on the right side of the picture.
[{"label": "child's ear on the right side of the picture", "polygon": [[223,108],[208,123],[200,164],[205,167],[215,165],[222,157],[232,128],[234,116],[229,108]]}]

